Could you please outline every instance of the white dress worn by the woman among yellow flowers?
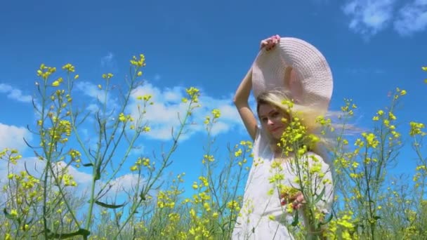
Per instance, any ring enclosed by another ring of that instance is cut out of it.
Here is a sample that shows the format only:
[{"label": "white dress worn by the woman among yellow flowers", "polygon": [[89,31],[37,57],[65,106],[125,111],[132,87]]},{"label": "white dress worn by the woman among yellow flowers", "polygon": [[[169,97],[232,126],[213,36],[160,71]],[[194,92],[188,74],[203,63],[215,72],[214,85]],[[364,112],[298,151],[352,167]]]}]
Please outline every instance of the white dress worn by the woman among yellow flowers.
[{"label": "white dress worn by the woman among yellow flowers", "polygon": [[[280,196],[277,190],[268,194],[274,185],[268,178],[272,176],[270,165],[274,159],[274,153],[268,144],[268,138],[264,131],[258,127],[254,141],[254,161],[251,171],[248,175],[247,184],[244,192],[243,206],[240,210],[235,229],[232,233],[233,240],[269,240],[269,239],[294,239],[287,227],[278,220],[282,218],[291,223],[293,216],[286,213],[284,206],[280,204]],[[308,152],[307,156],[315,155],[322,163],[324,178],[331,179],[329,165],[324,163],[323,159],[313,152]],[[284,185],[290,185],[294,182],[296,175],[290,170],[287,164],[284,164]],[[323,178],[323,179],[324,179]],[[292,184],[295,186],[295,184]],[[317,193],[320,194],[318,190]],[[331,201],[333,199],[333,188],[331,185],[325,185],[325,201],[319,201],[316,206],[320,211],[329,212]],[[300,211],[300,220],[302,215]],[[274,218],[273,218],[274,217]],[[273,218],[273,220],[271,220]]]}]

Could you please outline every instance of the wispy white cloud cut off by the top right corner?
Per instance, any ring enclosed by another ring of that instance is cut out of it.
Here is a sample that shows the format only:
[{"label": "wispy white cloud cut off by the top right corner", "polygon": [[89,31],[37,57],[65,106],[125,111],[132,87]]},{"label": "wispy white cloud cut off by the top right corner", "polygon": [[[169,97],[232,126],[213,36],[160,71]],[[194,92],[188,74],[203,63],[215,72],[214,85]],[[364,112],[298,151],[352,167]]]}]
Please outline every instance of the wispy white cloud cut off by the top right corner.
[{"label": "wispy white cloud cut off by the top right corner", "polygon": [[427,0],[414,0],[405,4],[394,22],[394,28],[402,36],[422,32],[427,27]]}]

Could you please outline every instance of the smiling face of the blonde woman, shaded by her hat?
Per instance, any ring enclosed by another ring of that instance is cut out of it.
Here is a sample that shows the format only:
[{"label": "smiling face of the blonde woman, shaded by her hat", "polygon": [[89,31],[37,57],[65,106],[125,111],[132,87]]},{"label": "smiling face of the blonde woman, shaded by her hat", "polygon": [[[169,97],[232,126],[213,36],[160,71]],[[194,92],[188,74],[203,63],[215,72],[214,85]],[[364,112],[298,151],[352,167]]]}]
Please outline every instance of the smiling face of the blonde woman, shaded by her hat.
[{"label": "smiling face of the blonde woman, shaded by her hat", "polygon": [[[287,127],[289,115],[269,104],[262,104],[258,109],[263,128],[272,135],[275,140],[280,140],[284,129]],[[283,122],[282,119],[287,121]]]}]

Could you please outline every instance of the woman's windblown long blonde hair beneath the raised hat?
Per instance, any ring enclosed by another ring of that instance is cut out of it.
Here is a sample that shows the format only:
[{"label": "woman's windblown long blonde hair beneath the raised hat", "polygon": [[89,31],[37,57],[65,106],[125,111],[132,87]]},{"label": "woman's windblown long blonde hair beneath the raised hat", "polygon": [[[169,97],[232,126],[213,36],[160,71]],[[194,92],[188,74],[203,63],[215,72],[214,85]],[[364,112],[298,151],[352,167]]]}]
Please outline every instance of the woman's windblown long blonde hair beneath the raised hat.
[{"label": "woman's windblown long blonde hair beneath the raised hat", "polygon": [[[332,145],[334,141],[332,140],[333,138],[329,138],[327,135],[320,133],[322,124],[317,121],[317,117],[319,116],[327,118],[329,115],[331,115],[327,109],[301,105],[298,102],[292,100],[291,93],[283,88],[276,88],[274,90],[261,93],[256,98],[256,102],[256,113],[258,114],[258,118],[259,108],[261,105],[270,105],[284,114],[289,114],[290,121],[292,121],[294,117],[298,117],[301,124],[306,127],[306,133],[315,135],[319,139],[319,141],[310,148],[310,151],[322,156],[322,158],[325,160],[327,159],[327,146]],[[291,105],[287,104],[286,102],[291,102]],[[268,135],[270,140],[270,148],[272,150],[277,149],[278,141],[273,140],[272,136],[267,131],[265,131],[265,133]]]}]

